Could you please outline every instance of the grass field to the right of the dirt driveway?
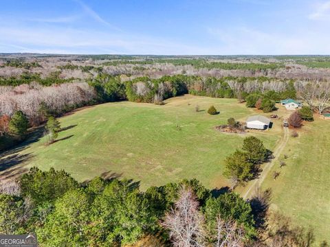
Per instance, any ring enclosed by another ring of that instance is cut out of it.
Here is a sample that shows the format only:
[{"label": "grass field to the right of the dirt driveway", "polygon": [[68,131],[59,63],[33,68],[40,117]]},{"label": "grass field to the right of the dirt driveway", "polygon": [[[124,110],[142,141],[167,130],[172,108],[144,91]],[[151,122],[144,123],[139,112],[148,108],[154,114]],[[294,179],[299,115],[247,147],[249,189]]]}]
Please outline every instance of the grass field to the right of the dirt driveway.
[{"label": "grass field to the right of the dirt driveway", "polygon": [[[273,210],[289,215],[301,226],[312,226],[318,242],[330,240],[330,121],[306,123],[299,137],[290,137],[287,165],[277,163],[263,183],[272,188]],[[284,158],[282,158],[284,160]],[[272,172],[281,172],[276,180]]]}]

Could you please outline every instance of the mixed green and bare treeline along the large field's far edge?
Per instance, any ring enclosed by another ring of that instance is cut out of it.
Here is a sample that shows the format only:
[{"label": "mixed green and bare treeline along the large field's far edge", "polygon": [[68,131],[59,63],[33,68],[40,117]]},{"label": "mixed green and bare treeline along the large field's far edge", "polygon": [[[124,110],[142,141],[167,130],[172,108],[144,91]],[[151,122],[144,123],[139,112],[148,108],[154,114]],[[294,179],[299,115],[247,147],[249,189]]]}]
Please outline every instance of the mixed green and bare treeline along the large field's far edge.
[{"label": "mixed green and bare treeline along the large field's far edge", "polygon": [[165,75],[159,79],[146,76],[122,82],[120,77],[100,74],[89,82],[96,89],[100,102],[128,99],[132,102],[161,104],[164,99],[190,93],[192,95],[239,98],[250,93],[269,93],[275,101],[296,98],[294,81],[270,78],[201,78],[188,75]]}]

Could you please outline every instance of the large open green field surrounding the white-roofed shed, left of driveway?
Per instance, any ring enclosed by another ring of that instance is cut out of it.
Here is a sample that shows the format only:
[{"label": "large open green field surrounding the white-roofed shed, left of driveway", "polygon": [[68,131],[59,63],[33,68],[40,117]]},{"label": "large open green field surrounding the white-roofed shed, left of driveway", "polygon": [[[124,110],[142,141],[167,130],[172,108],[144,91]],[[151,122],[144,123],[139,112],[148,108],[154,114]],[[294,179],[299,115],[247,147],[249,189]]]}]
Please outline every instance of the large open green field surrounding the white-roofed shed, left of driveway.
[{"label": "large open green field surrounding the white-roofed shed, left of driveway", "polygon": [[[208,115],[212,104],[219,115]],[[60,141],[45,146],[41,138],[23,145],[11,154],[13,158],[3,157],[19,159],[4,172],[35,165],[65,169],[79,181],[109,172],[141,181],[142,189],[182,178],[221,187],[227,185],[221,175],[223,159],[239,148],[248,134],[223,134],[214,126],[225,124],[229,117],[243,121],[252,114],[254,110],[236,99],[190,95],[168,99],[164,106],[132,102],[93,106],[59,119],[63,128],[70,127],[59,133]],[[280,131],[274,126],[253,134],[272,149]]]}]

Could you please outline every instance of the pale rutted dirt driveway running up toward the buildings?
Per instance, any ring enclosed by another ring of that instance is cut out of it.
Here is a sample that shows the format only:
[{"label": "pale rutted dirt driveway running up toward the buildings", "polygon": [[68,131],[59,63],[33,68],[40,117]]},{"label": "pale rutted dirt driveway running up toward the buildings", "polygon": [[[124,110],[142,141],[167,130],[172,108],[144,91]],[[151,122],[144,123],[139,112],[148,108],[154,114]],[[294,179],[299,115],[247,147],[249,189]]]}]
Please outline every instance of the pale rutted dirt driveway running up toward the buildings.
[{"label": "pale rutted dirt driveway running up toward the buildings", "polygon": [[263,172],[261,172],[259,178],[255,179],[253,181],[253,183],[248,187],[248,190],[243,194],[243,198],[246,200],[249,198],[249,196],[251,196],[251,193],[257,188],[260,187],[261,184],[263,183],[263,181],[265,180],[265,178],[267,177],[267,175],[269,174],[270,170],[272,169],[272,167],[274,166],[274,164],[276,163],[276,161],[278,161],[278,158],[281,155],[281,152],[283,152],[283,149],[285,148],[285,145],[287,144],[287,141],[289,140],[289,129],[288,128],[283,128],[283,137],[280,141],[280,143],[278,144],[278,146],[276,147],[276,149],[273,152],[274,158],[266,163],[265,167],[263,167]]}]

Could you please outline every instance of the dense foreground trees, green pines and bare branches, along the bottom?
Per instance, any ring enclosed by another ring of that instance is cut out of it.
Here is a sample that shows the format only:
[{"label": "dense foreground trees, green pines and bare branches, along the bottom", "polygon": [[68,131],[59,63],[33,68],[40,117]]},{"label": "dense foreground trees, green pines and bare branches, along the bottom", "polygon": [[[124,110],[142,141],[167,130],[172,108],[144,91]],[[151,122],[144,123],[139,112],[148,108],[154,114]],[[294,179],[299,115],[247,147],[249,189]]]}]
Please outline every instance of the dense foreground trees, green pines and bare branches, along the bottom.
[{"label": "dense foreground trees, green pines and bare branches, along the bottom", "polygon": [[34,232],[42,246],[311,246],[313,231],[268,212],[270,198],[259,189],[245,201],[195,179],[146,191],[111,174],[78,183],[32,167],[1,184],[0,232]]}]

